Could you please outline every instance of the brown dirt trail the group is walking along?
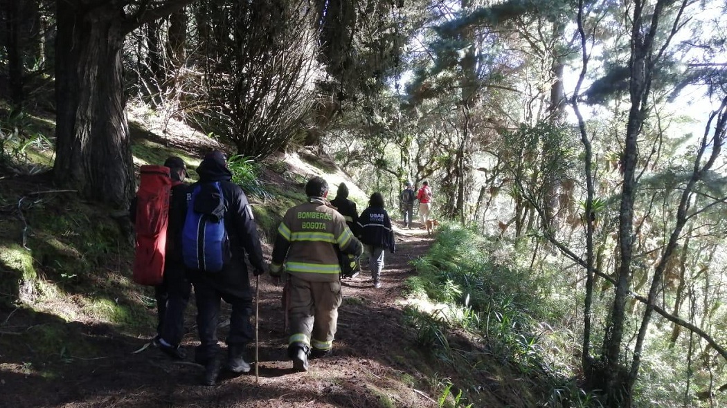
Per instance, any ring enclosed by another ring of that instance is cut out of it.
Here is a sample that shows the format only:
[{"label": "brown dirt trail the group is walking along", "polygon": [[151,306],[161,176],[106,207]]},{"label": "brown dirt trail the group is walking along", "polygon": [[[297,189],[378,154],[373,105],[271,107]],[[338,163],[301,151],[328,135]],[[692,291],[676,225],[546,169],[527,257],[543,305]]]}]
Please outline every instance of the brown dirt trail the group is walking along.
[{"label": "brown dirt trail the group is walking along", "polygon": [[[0,407],[432,407],[422,391],[426,379],[411,359],[412,330],[401,326],[403,281],[409,260],[421,256],[431,238],[422,229],[397,230],[397,252],[386,253],[380,288],[366,269],[344,281],[344,302],[334,353],[312,360],[310,371],[293,372],[286,358],[281,288],[260,279],[260,382],[248,375],[199,385],[202,367],[192,362],[195,308],[188,309],[184,346],[188,358],[172,362],[154,348],[137,354],[153,333],[139,338],[112,327],[68,323],[95,350],[69,356],[54,378],[0,370]],[[364,262],[365,264],[365,262]],[[254,281],[252,282],[254,286]],[[224,305],[224,303],[223,303]],[[225,308],[225,306],[223,306]],[[42,324],[42,322],[39,322]],[[225,328],[219,332],[226,335]],[[253,359],[254,345],[250,345]],[[1,362],[0,362],[1,363]],[[417,389],[419,388],[419,389]]]}]

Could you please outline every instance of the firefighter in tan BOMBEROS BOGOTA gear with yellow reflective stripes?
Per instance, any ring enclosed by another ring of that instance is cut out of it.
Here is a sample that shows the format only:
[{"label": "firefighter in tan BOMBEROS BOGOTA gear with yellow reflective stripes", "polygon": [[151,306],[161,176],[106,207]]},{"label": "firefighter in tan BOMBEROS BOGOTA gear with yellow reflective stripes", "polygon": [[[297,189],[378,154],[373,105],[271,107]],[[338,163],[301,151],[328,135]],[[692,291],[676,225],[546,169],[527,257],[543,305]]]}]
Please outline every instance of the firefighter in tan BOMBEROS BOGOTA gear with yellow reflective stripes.
[{"label": "firefighter in tan BOMBEROS BOGOTA gear with yellow reflective stripes", "polygon": [[288,356],[296,371],[308,371],[308,357],[333,347],[341,305],[337,251],[361,256],[364,248],[343,216],[326,202],[328,183],[313,177],[305,184],[308,202],[290,208],[278,227],[270,274],[286,274],[290,317]]}]

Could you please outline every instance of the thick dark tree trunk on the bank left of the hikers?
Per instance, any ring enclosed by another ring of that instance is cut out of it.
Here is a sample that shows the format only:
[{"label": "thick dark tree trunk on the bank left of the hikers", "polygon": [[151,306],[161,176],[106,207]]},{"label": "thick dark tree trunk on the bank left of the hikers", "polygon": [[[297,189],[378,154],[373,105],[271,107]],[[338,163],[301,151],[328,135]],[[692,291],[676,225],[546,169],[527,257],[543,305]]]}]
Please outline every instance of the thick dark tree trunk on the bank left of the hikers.
[{"label": "thick dark tree trunk on the bank left of the hikers", "polygon": [[124,208],[134,189],[124,110],[123,9],[58,1],[55,181]]}]

